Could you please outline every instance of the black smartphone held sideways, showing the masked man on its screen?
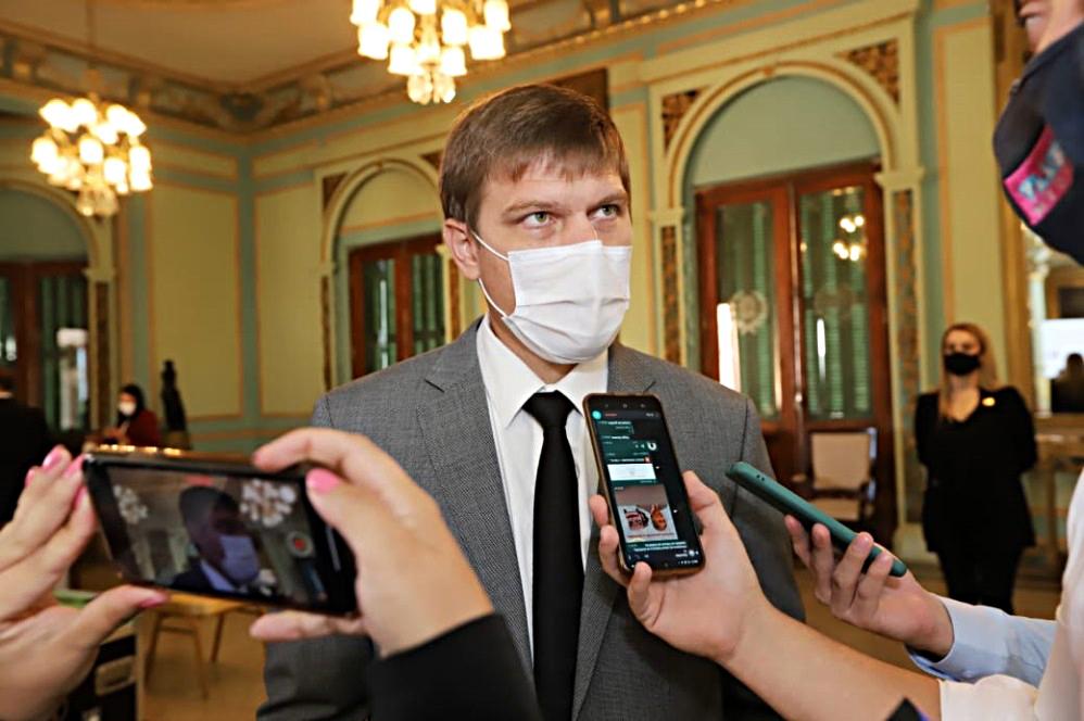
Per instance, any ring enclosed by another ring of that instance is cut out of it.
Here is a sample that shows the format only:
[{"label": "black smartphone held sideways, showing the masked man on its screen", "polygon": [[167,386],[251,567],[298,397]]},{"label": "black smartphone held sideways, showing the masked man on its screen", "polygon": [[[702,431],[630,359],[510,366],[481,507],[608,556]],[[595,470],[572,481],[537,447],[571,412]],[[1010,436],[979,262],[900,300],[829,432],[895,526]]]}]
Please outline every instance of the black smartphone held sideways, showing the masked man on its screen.
[{"label": "black smartphone held sideways, showing the masked man on its screen", "polygon": [[354,559],[316,514],[304,467],[102,447],[83,464],[122,578],[331,615],[356,611]]}]

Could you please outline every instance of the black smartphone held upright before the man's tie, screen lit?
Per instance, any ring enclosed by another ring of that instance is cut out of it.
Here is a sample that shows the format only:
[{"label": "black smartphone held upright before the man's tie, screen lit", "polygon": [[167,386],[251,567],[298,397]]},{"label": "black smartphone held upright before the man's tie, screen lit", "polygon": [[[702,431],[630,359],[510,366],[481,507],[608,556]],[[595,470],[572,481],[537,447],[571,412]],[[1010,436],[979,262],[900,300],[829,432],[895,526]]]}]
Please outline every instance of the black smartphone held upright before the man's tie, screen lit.
[{"label": "black smartphone held upright before the man's tie, screen lit", "polygon": [[594,393],[583,412],[621,567],[644,561],[661,575],[698,571],[704,551],[658,397]]}]

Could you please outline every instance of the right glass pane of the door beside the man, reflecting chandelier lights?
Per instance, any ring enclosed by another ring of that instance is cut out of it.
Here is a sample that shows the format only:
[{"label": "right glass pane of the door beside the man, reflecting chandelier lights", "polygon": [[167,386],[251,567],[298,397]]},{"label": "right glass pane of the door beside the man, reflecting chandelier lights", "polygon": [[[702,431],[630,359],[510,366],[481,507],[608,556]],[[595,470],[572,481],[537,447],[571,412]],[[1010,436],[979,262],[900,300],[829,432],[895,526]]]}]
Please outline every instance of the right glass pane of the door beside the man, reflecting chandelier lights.
[{"label": "right glass pane of the door beside the man, reflecting chandelier lights", "polygon": [[861,187],[798,198],[806,408],[811,420],[869,419],[869,241]]}]

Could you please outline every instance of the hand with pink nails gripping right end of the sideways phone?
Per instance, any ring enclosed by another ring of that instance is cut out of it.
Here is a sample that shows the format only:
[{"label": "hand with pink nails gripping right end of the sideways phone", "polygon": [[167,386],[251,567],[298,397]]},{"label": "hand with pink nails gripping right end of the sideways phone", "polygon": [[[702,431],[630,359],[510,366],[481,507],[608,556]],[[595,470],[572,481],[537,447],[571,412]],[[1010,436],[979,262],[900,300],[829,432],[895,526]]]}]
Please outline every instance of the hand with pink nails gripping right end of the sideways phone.
[{"label": "hand with pink nails gripping right end of the sideways phone", "polygon": [[264,470],[301,461],[324,467],[308,472],[308,498],[354,553],[361,611],[345,620],[268,614],[252,625],[257,638],[365,633],[387,656],[493,612],[437,503],[368,439],[303,429],[272,441],[252,460]]}]

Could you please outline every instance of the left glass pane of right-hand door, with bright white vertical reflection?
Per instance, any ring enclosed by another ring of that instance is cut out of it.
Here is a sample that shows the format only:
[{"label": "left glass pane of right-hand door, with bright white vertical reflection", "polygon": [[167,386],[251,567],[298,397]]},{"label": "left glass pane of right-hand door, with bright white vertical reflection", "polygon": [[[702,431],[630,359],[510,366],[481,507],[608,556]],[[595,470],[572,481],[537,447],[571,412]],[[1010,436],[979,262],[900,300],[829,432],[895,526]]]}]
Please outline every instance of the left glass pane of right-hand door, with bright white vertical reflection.
[{"label": "left glass pane of right-hand door, with bright white vertical reflection", "polygon": [[772,205],[762,200],[715,211],[720,380],[732,377],[766,420],[779,418]]}]

